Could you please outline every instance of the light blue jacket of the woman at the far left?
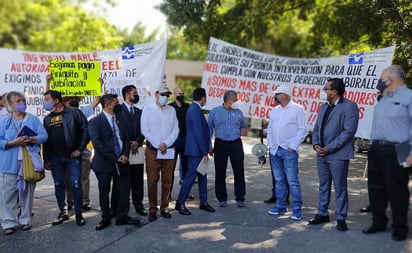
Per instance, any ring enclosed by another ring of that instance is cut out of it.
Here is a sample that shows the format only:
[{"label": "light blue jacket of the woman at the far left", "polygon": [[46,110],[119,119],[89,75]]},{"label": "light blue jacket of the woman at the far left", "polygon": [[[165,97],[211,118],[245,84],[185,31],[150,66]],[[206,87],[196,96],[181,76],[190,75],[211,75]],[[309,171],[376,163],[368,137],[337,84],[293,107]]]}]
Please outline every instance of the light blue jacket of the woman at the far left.
[{"label": "light blue jacket of the woman at the far left", "polygon": [[[28,146],[28,150],[31,152],[40,152],[40,144],[47,140],[47,132],[44,129],[40,120],[29,113],[26,113],[26,117],[21,120],[14,120],[14,124],[17,128],[21,129],[24,126],[29,127],[35,133],[37,133],[37,144],[32,147]],[[6,143],[13,141],[17,138],[19,129],[16,130],[10,118],[3,118],[0,121],[0,129],[4,129],[0,133],[0,172],[17,174],[17,159],[19,154],[19,147],[11,147],[6,149]]]}]

